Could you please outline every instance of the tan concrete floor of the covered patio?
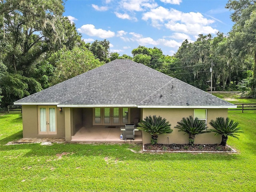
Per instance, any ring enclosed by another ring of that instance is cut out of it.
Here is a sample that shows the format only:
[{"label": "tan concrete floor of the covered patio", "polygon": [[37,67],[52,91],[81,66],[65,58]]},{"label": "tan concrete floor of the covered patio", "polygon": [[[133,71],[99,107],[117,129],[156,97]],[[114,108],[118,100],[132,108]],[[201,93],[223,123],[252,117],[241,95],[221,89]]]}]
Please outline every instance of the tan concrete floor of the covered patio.
[{"label": "tan concrete floor of the covered patio", "polygon": [[106,128],[105,126],[82,127],[71,138],[71,142],[84,143],[142,143],[141,131],[135,131],[134,140],[120,139],[120,126]]}]

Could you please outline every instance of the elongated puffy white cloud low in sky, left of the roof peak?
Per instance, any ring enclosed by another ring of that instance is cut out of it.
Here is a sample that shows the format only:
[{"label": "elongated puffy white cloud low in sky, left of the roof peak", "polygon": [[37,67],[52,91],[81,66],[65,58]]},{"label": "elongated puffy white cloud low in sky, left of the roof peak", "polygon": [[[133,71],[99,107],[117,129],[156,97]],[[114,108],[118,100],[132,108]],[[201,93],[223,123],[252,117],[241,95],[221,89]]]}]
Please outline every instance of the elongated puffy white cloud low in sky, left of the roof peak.
[{"label": "elongated puffy white cloud low in sky, left of the roof peak", "polygon": [[103,30],[103,29],[96,29],[94,25],[92,24],[86,24],[81,26],[80,28],[77,29],[78,32],[84,33],[89,36],[98,36],[100,38],[110,38],[114,37],[115,33],[108,30]]}]

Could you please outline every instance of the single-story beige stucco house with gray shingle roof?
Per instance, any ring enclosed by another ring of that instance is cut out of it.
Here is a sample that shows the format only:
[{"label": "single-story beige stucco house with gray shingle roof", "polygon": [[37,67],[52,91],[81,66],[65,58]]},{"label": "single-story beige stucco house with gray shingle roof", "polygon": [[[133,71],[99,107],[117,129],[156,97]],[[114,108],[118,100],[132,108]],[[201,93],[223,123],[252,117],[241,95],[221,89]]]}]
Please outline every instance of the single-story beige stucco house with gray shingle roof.
[{"label": "single-story beige stucco house with gray shingle roof", "polygon": [[[135,139],[120,140],[121,128],[146,116],[166,118],[174,131],[158,136],[159,143],[188,143],[174,126],[183,117],[226,118],[236,108],[203,90],[132,60],[114,60],[50,88],[22,98],[24,138],[65,138],[66,142],[142,142],[150,134],[135,131]],[[206,133],[195,143],[220,143]]]}]

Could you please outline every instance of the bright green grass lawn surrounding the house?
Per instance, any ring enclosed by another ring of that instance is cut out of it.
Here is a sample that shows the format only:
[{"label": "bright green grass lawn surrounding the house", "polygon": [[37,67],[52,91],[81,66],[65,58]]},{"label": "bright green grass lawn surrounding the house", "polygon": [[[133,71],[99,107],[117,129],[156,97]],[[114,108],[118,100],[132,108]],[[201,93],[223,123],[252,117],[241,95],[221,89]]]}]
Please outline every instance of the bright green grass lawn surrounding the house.
[{"label": "bright green grass lawn surrounding the house", "polygon": [[0,114],[0,191],[256,191],[256,111],[240,122],[237,154],[135,153],[141,145],[8,145],[22,138],[21,114]]}]

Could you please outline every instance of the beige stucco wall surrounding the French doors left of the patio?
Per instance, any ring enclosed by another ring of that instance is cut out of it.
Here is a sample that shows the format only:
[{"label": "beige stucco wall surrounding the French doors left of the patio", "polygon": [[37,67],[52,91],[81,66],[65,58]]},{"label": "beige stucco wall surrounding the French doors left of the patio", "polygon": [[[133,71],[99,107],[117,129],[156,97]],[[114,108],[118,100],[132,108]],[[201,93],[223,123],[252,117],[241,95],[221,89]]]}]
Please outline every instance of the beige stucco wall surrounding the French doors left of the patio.
[{"label": "beige stucco wall surrounding the French doors left of the patio", "polygon": [[65,111],[56,108],[57,134],[38,134],[37,105],[22,106],[23,138],[65,138]]}]

